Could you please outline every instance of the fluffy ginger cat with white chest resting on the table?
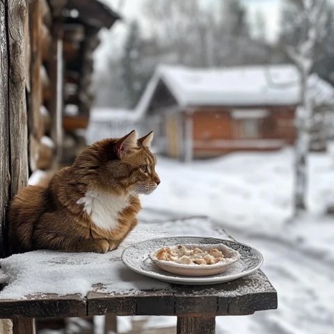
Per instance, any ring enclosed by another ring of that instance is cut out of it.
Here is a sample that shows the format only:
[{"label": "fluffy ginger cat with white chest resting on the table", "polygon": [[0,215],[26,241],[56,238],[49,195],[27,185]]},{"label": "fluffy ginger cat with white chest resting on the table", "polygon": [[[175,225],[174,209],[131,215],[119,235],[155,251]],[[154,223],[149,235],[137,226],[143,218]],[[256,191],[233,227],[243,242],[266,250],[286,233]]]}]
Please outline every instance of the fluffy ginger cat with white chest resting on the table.
[{"label": "fluffy ginger cat with white chest resting on the table", "polygon": [[160,183],[150,152],[153,132],[106,138],[84,149],[49,186],[27,186],[9,209],[12,253],[36,249],[105,253],[136,226],[138,194]]}]

